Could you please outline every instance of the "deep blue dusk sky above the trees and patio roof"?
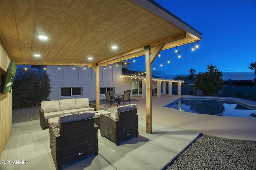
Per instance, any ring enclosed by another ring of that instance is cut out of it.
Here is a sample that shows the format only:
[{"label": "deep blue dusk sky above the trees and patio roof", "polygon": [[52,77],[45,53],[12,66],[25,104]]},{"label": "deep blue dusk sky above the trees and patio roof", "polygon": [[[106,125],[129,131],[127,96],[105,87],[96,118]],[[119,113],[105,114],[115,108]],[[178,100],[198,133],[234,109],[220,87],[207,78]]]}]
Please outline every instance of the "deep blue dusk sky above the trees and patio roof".
[{"label": "deep blue dusk sky above the trees and patio roof", "polygon": [[[193,68],[206,72],[213,64],[222,71],[224,80],[252,80],[256,62],[256,0],[155,0],[172,14],[202,33],[199,48],[191,47],[175,55],[175,48],[160,52],[152,64],[152,74],[163,78],[188,75]],[[190,45],[190,44],[189,44]],[[178,47],[178,51],[189,45]],[[171,57],[172,56],[172,57]],[[168,58],[170,63],[168,64]],[[165,61],[164,61],[165,60]],[[136,58],[130,70],[145,70],[145,56]],[[164,61],[164,62],[162,62]],[[163,66],[160,67],[162,62]],[[155,70],[153,70],[155,66]]]}]

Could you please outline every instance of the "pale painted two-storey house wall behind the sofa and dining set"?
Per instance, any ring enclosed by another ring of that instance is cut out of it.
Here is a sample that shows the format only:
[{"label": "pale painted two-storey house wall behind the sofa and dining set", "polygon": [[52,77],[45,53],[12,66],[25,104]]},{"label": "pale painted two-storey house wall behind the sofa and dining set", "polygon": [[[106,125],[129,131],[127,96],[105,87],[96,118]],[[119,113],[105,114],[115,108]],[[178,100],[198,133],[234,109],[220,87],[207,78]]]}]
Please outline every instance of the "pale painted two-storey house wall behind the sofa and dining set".
[{"label": "pale painted two-storey house wall behind the sofa and dining set", "polygon": [[[51,93],[49,100],[60,100],[64,98],[88,97],[89,100],[96,100],[96,74],[93,68],[84,69],[84,66],[47,66],[46,74],[51,80]],[[39,70],[38,70],[39,71]],[[82,88],[81,96],[60,96],[60,88]],[[100,88],[115,88],[115,94],[123,94],[124,90],[132,88],[131,82],[122,78],[122,64],[108,66],[105,69],[100,67]],[[100,99],[105,95],[100,94]]]}]

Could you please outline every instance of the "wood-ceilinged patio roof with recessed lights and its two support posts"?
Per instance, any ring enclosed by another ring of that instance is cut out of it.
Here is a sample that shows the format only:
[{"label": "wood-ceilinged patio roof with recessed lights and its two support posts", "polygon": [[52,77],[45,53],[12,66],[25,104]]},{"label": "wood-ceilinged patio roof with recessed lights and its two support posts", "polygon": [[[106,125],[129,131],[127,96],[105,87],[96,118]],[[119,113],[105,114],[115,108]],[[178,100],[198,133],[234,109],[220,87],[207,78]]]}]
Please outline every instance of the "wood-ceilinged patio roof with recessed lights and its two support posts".
[{"label": "wood-ceilinged patio roof with recessed lights and its two support posts", "polygon": [[161,50],[202,37],[153,0],[0,0],[0,20],[1,46],[16,64],[93,67],[97,109],[99,66],[145,55],[147,133],[152,62]]}]

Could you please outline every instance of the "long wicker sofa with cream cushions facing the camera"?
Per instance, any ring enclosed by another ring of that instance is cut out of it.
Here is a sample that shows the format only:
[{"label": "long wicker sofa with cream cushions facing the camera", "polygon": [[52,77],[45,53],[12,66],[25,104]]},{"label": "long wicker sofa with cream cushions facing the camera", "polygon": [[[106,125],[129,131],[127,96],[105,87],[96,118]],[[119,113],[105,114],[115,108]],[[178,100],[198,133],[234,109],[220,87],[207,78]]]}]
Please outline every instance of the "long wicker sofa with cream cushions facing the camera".
[{"label": "long wicker sofa with cream cushions facing the camera", "polygon": [[96,104],[89,102],[89,98],[72,98],[61,100],[42,101],[40,114],[40,126],[48,128],[48,119],[60,117],[64,114],[74,114],[85,111],[96,110]]}]

